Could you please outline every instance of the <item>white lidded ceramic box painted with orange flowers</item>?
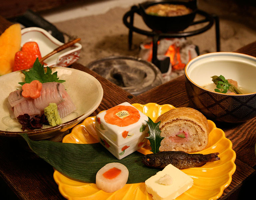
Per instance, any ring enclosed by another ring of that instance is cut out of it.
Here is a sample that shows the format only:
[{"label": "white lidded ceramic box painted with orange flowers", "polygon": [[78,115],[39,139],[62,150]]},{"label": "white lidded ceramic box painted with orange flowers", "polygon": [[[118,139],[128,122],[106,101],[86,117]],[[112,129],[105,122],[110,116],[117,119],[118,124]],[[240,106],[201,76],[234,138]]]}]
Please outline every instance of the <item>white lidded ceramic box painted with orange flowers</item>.
[{"label": "white lidded ceramic box painted with orange flowers", "polygon": [[96,116],[99,142],[117,159],[137,151],[147,143],[148,117],[128,102]]}]

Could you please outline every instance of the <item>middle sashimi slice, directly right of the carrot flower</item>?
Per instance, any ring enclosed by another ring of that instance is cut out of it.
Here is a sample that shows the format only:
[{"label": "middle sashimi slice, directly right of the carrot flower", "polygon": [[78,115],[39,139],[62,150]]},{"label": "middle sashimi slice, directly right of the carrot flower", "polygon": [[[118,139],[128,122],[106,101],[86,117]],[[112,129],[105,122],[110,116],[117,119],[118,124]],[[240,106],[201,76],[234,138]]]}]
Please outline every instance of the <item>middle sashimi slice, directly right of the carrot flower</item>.
[{"label": "middle sashimi slice, directly right of the carrot flower", "polygon": [[37,109],[43,111],[49,103],[56,103],[57,105],[63,101],[62,94],[66,92],[65,87],[61,83],[48,82],[43,83],[41,96],[34,99]]}]

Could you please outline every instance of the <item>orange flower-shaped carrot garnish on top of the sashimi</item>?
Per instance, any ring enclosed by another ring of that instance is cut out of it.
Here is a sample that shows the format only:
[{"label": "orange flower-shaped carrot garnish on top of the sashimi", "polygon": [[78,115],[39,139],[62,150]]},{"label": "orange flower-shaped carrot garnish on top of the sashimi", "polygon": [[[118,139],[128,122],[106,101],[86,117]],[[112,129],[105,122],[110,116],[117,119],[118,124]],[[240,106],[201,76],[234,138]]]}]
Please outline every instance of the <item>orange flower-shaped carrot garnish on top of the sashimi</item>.
[{"label": "orange flower-shaped carrot garnish on top of the sashimi", "polygon": [[36,99],[41,96],[42,83],[38,80],[31,81],[31,83],[25,83],[22,86],[22,96],[24,98]]}]

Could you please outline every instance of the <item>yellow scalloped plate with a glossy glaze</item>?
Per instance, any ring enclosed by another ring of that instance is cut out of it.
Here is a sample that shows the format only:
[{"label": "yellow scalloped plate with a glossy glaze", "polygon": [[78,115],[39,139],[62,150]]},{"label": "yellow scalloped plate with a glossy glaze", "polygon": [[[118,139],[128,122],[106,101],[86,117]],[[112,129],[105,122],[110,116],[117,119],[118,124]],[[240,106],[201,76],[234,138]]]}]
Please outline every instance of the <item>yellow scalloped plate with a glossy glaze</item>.
[{"label": "yellow scalloped plate with a glossy glaze", "polygon": [[[174,106],[165,104],[148,103],[145,105],[132,104],[153,121]],[[177,197],[177,200],[213,200],[218,199],[223,190],[228,187],[235,172],[236,154],[232,150],[232,143],[225,137],[225,133],[216,128],[216,125],[208,120],[209,142],[207,147],[197,153],[208,154],[219,152],[219,161],[206,163],[202,167],[194,167],[182,170],[192,177],[193,186]],[[88,144],[98,142],[95,131],[95,117],[86,118],[81,124],[76,125],[70,134],[63,138],[65,143]],[[150,146],[146,145],[139,152],[150,153]],[[107,193],[99,190],[94,183],[84,183],[66,177],[58,171],[53,174],[55,182],[59,186],[60,193],[69,200],[152,200],[152,196],[147,193],[145,183],[126,184],[122,189]]]}]

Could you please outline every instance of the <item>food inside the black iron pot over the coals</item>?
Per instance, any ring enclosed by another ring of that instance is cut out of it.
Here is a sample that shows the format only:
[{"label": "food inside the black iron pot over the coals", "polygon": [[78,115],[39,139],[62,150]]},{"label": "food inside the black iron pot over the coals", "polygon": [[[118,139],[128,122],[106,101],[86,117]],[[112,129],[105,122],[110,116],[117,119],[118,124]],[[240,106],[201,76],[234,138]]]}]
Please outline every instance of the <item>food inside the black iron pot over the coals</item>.
[{"label": "food inside the black iron pot over the coals", "polygon": [[149,15],[156,15],[162,17],[174,17],[180,15],[187,15],[192,10],[184,5],[178,4],[155,4],[146,8],[146,13]]}]

